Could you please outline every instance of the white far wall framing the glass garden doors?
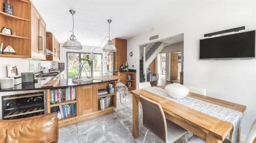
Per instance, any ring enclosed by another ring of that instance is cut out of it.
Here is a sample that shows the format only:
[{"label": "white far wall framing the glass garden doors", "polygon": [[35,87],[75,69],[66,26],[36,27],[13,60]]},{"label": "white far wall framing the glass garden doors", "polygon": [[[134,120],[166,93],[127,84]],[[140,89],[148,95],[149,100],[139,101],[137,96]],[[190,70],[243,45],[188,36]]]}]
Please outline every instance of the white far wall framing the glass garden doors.
[{"label": "white far wall framing the glass garden doors", "polygon": [[[93,51],[94,48],[90,48],[91,46],[82,46],[81,50],[72,50],[72,49],[65,49],[64,47],[62,47],[63,44],[60,44],[60,63],[65,63],[66,65],[66,57],[67,57],[67,52],[81,52],[81,53],[91,53]],[[90,48],[90,49],[89,49]],[[103,61],[105,61],[105,54],[102,51],[103,47],[97,47],[97,49],[95,49],[93,51],[93,53],[98,53],[98,54],[103,54]],[[53,64],[56,65],[57,67],[57,63],[53,62]],[[66,67],[65,67],[66,68]],[[106,65],[103,63],[103,69],[106,69]],[[65,72],[65,78],[67,77],[67,72]]]}]

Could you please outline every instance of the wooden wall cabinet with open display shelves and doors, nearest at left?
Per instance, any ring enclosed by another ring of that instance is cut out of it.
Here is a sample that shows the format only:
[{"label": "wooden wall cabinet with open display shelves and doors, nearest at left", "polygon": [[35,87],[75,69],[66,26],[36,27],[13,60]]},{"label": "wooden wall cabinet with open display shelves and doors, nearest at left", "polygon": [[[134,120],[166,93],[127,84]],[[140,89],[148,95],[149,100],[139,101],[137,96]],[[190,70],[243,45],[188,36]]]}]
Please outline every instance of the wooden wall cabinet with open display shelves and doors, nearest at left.
[{"label": "wooden wall cabinet with open display shelves and doors, nearest at left", "polygon": [[[12,34],[0,33],[3,50],[10,45],[15,54],[0,54],[0,57],[46,59],[46,23],[28,0],[13,0],[13,15],[3,12],[0,0],[0,30],[10,28]],[[15,35],[13,33],[16,33]]]}]

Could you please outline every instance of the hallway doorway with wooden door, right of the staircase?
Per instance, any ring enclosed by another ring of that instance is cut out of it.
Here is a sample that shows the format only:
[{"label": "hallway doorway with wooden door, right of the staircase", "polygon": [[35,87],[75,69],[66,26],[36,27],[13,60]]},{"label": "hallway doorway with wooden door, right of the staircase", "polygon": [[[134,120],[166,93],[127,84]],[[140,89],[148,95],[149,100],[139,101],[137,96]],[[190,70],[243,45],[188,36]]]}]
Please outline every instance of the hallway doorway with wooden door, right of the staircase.
[{"label": "hallway doorway with wooden door, right of the staircase", "polygon": [[183,84],[183,53],[171,54],[171,82]]}]

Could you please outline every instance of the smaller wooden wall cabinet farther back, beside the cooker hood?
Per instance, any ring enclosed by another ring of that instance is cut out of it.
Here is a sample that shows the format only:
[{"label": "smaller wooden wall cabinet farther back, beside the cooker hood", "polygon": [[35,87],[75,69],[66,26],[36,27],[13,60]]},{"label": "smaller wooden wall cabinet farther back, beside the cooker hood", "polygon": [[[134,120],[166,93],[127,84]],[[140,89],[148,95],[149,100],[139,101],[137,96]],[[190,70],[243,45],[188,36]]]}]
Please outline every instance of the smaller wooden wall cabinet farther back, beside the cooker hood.
[{"label": "smaller wooden wall cabinet farther back, beside the cooker hood", "polygon": [[60,60],[60,43],[51,32],[46,32],[46,49],[53,53],[53,55],[46,55],[46,60]]}]

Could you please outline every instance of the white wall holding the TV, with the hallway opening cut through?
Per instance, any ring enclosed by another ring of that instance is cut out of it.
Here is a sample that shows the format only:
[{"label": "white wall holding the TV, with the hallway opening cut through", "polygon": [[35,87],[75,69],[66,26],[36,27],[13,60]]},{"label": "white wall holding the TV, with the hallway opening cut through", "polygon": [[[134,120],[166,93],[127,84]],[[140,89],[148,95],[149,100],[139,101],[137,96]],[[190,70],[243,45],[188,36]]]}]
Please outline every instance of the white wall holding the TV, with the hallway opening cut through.
[{"label": "white wall holding the TV, with the hallway opening cut through", "polygon": [[127,54],[133,51],[134,57],[127,56],[128,64],[134,64],[134,69],[139,69],[138,45],[148,42],[148,37],[159,34],[161,39],[184,33],[184,84],[206,88],[210,97],[246,105],[242,135],[247,135],[256,118],[256,59],[199,60],[199,40],[205,33],[243,25],[246,31],[255,30],[255,5],[254,0],[221,1],[156,27],[154,32],[148,31],[130,38],[127,41]]}]

